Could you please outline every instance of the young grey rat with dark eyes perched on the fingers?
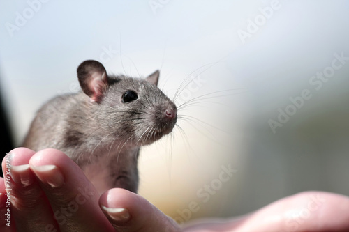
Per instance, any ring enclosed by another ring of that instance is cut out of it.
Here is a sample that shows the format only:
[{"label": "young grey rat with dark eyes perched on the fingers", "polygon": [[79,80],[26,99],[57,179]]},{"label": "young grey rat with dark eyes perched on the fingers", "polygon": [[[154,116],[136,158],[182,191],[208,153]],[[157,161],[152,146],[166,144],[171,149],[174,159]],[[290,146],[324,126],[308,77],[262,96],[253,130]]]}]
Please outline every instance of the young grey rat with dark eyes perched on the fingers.
[{"label": "young grey rat with dark eyes perched on the fingers", "polygon": [[66,153],[98,192],[138,190],[140,147],[169,134],[177,107],[157,87],[159,71],[145,79],[109,75],[102,63],[82,62],[82,91],[59,95],[41,107],[22,144]]}]

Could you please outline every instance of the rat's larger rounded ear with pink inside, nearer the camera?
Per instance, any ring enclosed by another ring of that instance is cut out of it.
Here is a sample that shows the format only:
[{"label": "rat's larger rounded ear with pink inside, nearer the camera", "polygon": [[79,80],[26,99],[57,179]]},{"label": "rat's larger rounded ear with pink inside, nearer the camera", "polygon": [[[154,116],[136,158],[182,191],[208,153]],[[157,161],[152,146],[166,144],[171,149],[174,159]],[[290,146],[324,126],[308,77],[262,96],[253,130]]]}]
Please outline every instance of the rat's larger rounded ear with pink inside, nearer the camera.
[{"label": "rat's larger rounded ear with pink inside, nearer the camera", "polygon": [[107,91],[107,72],[98,61],[82,62],[77,68],[77,79],[82,91],[95,102],[99,102]]}]

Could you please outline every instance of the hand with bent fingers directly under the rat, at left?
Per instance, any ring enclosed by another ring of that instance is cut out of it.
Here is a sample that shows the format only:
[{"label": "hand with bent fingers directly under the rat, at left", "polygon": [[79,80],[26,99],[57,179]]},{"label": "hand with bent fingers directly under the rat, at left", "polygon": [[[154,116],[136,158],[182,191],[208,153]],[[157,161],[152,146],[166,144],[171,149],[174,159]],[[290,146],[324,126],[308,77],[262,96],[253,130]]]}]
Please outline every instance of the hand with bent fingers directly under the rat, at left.
[{"label": "hand with bent fingers directly under the rat, at left", "polygon": [[[123,189],[101,196],[82,170],[59,150],[17,148],[10,173],[10,227],[0,183],[0,231],[179,231],[149,201]],[[2,162],[6,177],[6,158]]]}]

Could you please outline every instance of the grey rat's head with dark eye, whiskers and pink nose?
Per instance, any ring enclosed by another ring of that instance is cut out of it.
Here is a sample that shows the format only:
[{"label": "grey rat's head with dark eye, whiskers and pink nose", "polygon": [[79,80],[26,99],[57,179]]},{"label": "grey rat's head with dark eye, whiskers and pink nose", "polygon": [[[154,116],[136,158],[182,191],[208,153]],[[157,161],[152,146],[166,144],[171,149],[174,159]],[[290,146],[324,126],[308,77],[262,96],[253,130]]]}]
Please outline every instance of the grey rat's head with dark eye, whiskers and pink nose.
[{"label": "grey rat's head with dark eye, whiskers and pink nose", "polygon": [[159,72],[146,79],[107,75],[98,61],[84,61],[77,68],[82,91],[97,112],[94,119],[108,140],[145,145],[172,131],[177,107],[157,87]]}]

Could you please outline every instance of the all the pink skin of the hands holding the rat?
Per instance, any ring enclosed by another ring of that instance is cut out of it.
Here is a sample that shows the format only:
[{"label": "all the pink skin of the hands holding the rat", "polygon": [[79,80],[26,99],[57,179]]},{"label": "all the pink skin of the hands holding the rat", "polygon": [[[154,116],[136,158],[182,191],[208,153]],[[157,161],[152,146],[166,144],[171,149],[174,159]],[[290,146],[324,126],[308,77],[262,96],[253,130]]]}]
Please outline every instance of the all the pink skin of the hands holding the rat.
[{"label": "all the pink skin of the hands holding the rat", "polygon": [[[75,162],[59,150],[16,148],[11,158],[11,226],[0,179],[0,231],[288,232],[349,231],[349,198],[328,192],[288,196],[237,219],[206,219],[184,228],[138,194],[98,194]],[[6,158],[2,162],[6,174]],[[56,215],[56,219],[54,219]]]}]

